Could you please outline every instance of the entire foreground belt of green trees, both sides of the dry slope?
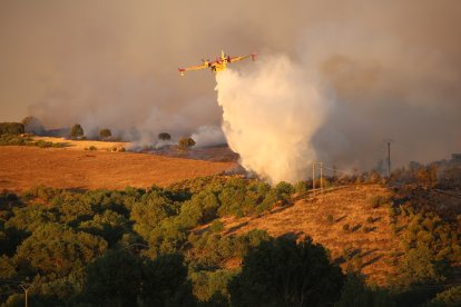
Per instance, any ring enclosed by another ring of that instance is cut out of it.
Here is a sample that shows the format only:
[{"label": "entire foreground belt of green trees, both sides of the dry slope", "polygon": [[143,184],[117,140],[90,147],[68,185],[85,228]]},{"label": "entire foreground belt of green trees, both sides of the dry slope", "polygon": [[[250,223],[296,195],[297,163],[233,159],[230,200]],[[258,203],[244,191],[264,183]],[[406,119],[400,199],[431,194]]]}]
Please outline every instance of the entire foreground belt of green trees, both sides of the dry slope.
[{"label": "entire foreground belt of green trees, both sides of the dry slope", "polygon": [[[308,237],[296,241],[257,229],[238,236],[223,230],[220,217],[258,215],[305,188],[305,182],[271,187],[214,176],[124,191],[38,187],[20,196],[1,192],[0,301],[23,304],[18,285],[35,306],[460,301],[459,287],[440,286],[450,265],[460,261],[457,224],[416,211],[405,197],[371,199],[372,206],[389,206],[395,234],[408,246],[398,255],[399,274],[390,288],[369,287],[359,273],[344,275]],[[438,287],[420,295],[428,285]]]}]

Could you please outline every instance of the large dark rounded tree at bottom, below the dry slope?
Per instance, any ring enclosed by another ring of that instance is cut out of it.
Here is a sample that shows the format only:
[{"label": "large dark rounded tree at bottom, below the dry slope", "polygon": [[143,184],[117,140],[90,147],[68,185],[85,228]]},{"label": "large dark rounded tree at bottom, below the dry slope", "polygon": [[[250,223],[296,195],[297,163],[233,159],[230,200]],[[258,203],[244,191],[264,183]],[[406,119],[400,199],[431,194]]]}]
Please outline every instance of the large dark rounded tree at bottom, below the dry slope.
[{"label": "large dark rounded tree at bottom, below the dry slope", "polygon": [[343,280],[323,246],[277,238],[244,257],[229,291],[234,306],[327,306],[340,298]]}]

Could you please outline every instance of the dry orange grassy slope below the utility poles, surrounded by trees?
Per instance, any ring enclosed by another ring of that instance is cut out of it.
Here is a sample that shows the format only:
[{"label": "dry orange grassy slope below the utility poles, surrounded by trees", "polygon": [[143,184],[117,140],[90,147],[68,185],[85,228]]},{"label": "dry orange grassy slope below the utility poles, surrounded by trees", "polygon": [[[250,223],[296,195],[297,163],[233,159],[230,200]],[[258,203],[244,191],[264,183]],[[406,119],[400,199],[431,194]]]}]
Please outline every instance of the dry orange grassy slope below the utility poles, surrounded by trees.
[{"label": "dry orange grassy slope below the utility poles, surrounded by trees", "polygon": [[[297,200],[293,206],[278,207],[259,217],[223,218],[224,234],[245,234],[252,229],[264,229],[274,237],[311,236],[325,246],[333,259],[344,249],[352,249],[362,258],[362,273],[370,283],[384,285],[392,254],[400,250],[399,239],[393,235],[388,206],[372,208],[370,197],[389,195],[379,185],[347,186],[314,198]],[[328,221],[328,215],[333,221]],[[373,219],[367,221],[369,217]],[[343,226],[349,225],[350,230]],[[367,227],[364,231],[364,227]],[[342,264],[345,268],[345,264]]]}]

